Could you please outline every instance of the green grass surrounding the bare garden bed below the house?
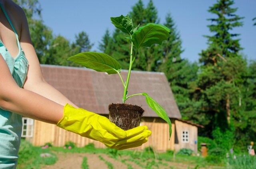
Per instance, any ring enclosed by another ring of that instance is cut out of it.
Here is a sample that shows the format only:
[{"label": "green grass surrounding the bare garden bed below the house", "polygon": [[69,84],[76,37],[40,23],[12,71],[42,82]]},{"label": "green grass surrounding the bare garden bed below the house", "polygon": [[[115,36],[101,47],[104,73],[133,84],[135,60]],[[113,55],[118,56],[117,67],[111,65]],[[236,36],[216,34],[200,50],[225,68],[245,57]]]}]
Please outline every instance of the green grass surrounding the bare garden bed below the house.
[{"label": "green grass surrounding the bare garden bed below the house", "polygon": [[[236,169],[236,168],[246,168],[252,169],[256,166],[256,157],[250,155],[236,155],[236,159],[233,158],[223,158],[220,163],[211,163],[207,158],[197,157],[197,156],[188,156],[188,155],[173,155],[172,151],[167,151],[166,153],[157,153],[151,151],[150,149],[145,149],[144,151],[131,151],[131,150],[122,150],[116,151],[114,149],[100,149],[95,148],[94,145],[89,144],[85,147],[74,147],[72,149],[63,149],[63,147],[51,147],[50,149],[42,149],[41,147],[32,146],[27,141],[22,140],[18,167],[17,169],[40,169],[44,165],[53,165],[56,163],[58,158],[55,153],[93,153],[93,154],[107,154],[109,157],[116,159],[124,163],[128,169],[132,169],[132,165],[129,163],[132,162],[145,169],[155,169],[155,168],[166,168],[166,169],[175,169],[173,166],[168,166],[168,162],[184,163],[188,166],[194,166],[193,168],[221,168],[221,169]],[[40,157],[40,155],[48,153],[50,157]],[[101,158],[111,169],[113,165]],[[124,160],[125,159],[125,160]],[[84,157],[83,163],[81,164],[83,169],[88,169],[87,158]],[[192,168],[192,167],[190,167]]]}]

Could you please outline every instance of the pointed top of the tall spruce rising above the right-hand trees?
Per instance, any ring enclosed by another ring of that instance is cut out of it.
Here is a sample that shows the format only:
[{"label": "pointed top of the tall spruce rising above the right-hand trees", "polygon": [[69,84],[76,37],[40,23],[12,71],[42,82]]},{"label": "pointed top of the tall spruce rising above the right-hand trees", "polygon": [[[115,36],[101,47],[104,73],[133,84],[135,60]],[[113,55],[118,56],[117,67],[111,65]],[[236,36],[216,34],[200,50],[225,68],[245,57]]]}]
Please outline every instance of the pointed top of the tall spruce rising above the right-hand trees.
[{"label": "pointed top of the tall spruce rising above the right-hand trees", "polygon": [[238,8],[231,8],[230,6],[233,4],[233,0],[218,0],[218,3],[208,10],[208,12],[216,14],[218,18],[208,19],[215,23],[208,25],[214,36],[205,36],[208,38],[209,48],[200,54],[200,62],[204,65],[216,64],[218,60],[223,60],[223,58],[236,57],[238,52],[242,50],[239,39],[233,39],[239,34],[232,34],[231,30],[242,26],[243,23],[240,20],[244,17],[234,14]]}]

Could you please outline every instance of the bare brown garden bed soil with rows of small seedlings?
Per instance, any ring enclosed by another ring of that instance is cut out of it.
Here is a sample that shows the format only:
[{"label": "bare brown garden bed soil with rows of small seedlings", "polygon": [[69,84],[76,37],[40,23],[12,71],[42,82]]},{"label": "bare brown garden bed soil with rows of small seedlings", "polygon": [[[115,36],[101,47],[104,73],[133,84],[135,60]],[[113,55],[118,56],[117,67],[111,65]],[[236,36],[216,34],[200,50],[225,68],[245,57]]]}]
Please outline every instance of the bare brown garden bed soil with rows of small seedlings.
[{"label": "bare brown garden bed soil with rows of small seedlings", "polygon": [[[128,169],[130,165],[133,169],[143,169],[136,163],[128,161],[128,157],[119,157],[119,159],[114,159],[107,154],[90,154],[90,153],[56,153],[58,161],[54,165],[44,165],[41,169],[81,169],[82,161],[84,157],[87,157],[87,164],[89,169],[108,169],[108,165],[99,156],[103,157],[104,160],[108,161],[113,165],[114,169]],[[125,163],[121,162],[121,159],[125,160]],[[144,161],[142,165],[150,163],[152,161]],[[152,169],[188,169],[195,168],[196,165],[187,163],[176,163],[170,161],[162,161],[161,165],[158,167],[154,166]],[[224,167],[200,167],[200,169],[224,169]]]}]

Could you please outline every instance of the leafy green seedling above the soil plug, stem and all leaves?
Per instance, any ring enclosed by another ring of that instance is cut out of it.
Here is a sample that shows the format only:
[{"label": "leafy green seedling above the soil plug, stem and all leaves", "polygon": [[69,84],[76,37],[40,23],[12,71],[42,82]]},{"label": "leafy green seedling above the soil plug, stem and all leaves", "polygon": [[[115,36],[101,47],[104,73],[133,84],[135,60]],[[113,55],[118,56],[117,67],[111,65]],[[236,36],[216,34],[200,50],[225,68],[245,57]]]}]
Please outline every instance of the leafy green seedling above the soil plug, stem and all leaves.
[{"label": "leafy green seedling above the soil plug, stem and all leaves", "polygon": [[136,54],[138,50],[141,47],[150,47],[153,44],[162,44],[162,41],[167,40],[168,36],[170,36],[170,29],[166,26],[154,23],[149,23],[146,26],[134,27],[132,19],[128,15],[111,17],[110,20],[116,28],[128,35],[128,37],[125,38],[128,43],[130,43],[130,64],[126,82],[124,82],[120,74],[121,65],[114,58],[107,54],[100,52],[83,52],[76,54],[75,56],[71,56],[70,58],[68,58],[68,60],[72,60],[77,64],[80,64],[86,68],[96,70],[98,72],[118,74],[124,87],[122,102],[125,103],[128,98],[135,95],[144,95],[146,97],[146,102],[148,103],[148,105],[156,112],[159,117],[164,119],[169,124],[169,136],[171,136],[171,121],[162,106],[154,101],[154,99],[152,99],[152,97],[150,97],[147,93],[137,93],[128,96],[127,92],[132,64],[134,64],[136,60]]}]

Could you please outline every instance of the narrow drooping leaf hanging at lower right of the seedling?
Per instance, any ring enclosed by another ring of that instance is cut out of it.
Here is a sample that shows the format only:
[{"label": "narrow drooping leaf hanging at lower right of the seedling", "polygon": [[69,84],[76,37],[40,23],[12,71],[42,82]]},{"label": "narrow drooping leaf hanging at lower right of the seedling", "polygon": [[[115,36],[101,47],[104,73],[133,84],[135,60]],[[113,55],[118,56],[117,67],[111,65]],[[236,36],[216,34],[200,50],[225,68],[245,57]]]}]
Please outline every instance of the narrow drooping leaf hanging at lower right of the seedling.
[{"label": "narrow drooping leaf hanging at lower right of the seedling", "polygon": [[170,140],[171,134],[172,134],[172,123],[166,111],[160,104],[154,101],[154,99],[152,99],[152,97],[150,97],[147,93],[142,93],[142,95],[146,97],[146,102],[148,103],[149,107],[151,107],[151,109],[153,109],[159,117],[164,119],[169,124],[169,140]]}]

